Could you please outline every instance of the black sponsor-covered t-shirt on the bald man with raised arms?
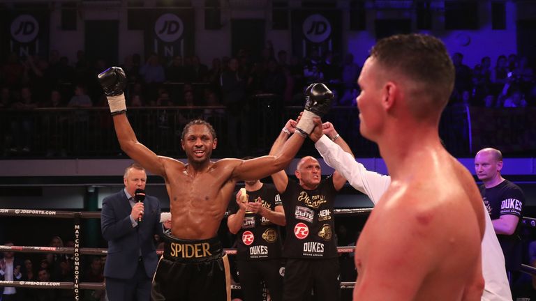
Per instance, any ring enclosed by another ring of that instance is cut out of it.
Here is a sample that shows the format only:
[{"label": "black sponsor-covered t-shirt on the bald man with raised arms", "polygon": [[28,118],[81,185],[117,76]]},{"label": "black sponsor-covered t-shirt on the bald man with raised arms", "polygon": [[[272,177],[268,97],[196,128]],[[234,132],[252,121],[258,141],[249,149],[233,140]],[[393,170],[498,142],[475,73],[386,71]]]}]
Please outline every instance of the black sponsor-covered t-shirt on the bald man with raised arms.
[{"label": "black sponsor-covered t-shirt on the bald man with raised arms", "polygon": [[285,209],[286,258],[335,258],[333,177],[320,182],[315,190],[305,190],[293,180],[281,194]]}]

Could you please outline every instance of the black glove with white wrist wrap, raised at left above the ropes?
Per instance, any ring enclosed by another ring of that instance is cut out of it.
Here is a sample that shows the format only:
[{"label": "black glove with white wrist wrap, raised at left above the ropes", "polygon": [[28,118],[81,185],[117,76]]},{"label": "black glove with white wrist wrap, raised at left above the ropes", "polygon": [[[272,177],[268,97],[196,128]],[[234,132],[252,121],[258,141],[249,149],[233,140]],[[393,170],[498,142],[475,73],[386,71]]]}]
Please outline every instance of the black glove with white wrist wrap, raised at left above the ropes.
[{"label": "black glove with white wrist wrap, raised at left above the ropes", "polygon": [[119,67],[108,68],[98,75],[98,82],[101,83],[106,94],[112,116],[126,112],[125,95],[123,94],[126,86],[126,75],[123,69]]}]

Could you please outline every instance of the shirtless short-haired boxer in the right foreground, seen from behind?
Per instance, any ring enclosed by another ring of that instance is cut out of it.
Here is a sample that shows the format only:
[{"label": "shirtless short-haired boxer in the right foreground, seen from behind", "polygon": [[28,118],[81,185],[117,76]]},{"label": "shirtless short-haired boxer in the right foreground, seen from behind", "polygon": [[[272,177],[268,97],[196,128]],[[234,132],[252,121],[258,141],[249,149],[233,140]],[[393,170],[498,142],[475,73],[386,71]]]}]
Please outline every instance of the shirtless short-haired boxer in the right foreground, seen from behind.
[{"label": "shirtless short-haired boxer in the right foreground, seen from behind", "polygon": [[382,39],[358,84],[359,130],[392,182],[356,245],[354,300],[479,300],[482,199],[438,134],[454,86],[445,45],[422,34]]}]

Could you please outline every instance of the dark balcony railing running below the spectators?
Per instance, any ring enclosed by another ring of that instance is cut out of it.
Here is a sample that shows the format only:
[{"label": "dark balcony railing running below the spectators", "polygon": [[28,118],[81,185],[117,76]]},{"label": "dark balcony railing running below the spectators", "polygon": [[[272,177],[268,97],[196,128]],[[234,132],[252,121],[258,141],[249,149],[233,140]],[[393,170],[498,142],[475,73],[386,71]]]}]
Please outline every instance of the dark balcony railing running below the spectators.
[{"label": "dark balcony railing running below the spectators", "polygon": [[[278,107],[274,97],[258,95],[244,108],[242,116],[228,115],[224,107],[143,107],[128,108],[128,120],[137,139],[158,155],[185,157],[181,149],[184,125],[202,118],[214,126],[218,135],[213,157],[241,157],[266,155],[285,121],[295,118],[301,109]],[[475,114],[470,114],[472,111]],[[481,146],[503,148],[510,156],[533,156],[536,126],[530,116],[535,113],[536,109],[467,111],[465,107],[447,107],[440,123],[440,137],[457,157],[472,157]],[[379,156],[377,146],[359,134],[357,108],[334,107],[323,119],[335,125],[356,157]],[[237,121],[239,130],[230,132],[230,125]],[[0,110],[0,151],[3,158],[124,155],[107,108]],[[318,154],[308,141],[298,155]]]}]

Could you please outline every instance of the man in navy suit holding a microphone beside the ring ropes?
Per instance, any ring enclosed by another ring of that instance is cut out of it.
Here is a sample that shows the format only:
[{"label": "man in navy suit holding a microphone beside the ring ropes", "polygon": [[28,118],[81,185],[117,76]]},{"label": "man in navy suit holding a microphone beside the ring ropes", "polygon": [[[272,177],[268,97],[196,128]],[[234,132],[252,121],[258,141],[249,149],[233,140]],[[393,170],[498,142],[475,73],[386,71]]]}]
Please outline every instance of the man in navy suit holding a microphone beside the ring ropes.
[{"label": "man in navy suit holding a microphone beside the ring ropes", "polygon": [[144,190],[147,182],[140,164],[127,167],[123,181],[124,190],[105,197],[101,213],[101,230],[108,241],[106,294],[110,301],[148,301],[158,263],[153,238],[163,234],[160,201],[154,196],[134,200],[135,191]]}]

